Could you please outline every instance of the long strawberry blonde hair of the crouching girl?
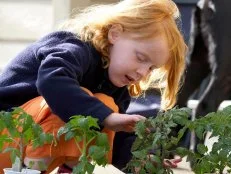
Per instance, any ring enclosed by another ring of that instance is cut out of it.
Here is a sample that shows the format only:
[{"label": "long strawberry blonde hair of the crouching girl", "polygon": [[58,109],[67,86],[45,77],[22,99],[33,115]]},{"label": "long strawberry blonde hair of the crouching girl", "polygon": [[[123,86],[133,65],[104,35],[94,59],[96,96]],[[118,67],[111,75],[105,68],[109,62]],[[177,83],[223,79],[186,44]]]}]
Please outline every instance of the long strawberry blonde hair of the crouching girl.
[{"label": "long strawberry blonde hair of the crouching girl", "polygon": [[169,46],[169,61],[153,70],[141,82],[130,85],[129,92],[134,97],[148,88],[159,88],[161,108],[167,110],[175,105],[185,69],[187,47],[177,26],[176,21],[179,19],[179,10],[172,0],[123,0],[84,9],[64,23],[62,29],[74,32],[83,41],[91,42],[101,52],[105,68],[110,61],[108,31],[112,25],[121,25],[123,32],[134,34],[136,39],[163,35]]}]

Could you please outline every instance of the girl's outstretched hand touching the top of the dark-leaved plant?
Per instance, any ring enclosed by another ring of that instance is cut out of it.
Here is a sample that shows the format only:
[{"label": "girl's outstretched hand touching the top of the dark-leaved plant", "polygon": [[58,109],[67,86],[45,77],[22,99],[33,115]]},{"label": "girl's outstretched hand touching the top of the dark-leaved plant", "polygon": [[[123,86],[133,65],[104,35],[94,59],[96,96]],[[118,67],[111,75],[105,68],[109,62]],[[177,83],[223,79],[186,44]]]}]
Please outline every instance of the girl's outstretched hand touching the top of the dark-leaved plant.
[{"label": "girl's outstretched hand touching the top of the dark-leaved plant", "polygon": [[103,125],[113,131],[134,132],[135,124],[145,117],[141,115],[129,115],[112,113],[103,122]]}]

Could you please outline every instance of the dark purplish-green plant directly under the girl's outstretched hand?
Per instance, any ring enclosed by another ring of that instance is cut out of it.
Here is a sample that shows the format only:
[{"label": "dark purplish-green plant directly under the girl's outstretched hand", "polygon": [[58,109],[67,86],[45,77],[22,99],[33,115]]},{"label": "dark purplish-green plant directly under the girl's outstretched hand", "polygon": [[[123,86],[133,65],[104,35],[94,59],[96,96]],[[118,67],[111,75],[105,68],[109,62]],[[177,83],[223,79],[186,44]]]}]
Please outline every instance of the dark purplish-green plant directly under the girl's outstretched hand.
[{"label": "dark purplish-green plant directly under the girl's outstretched hand", "polygon": [[[131,150],[133,157],[126,169],[139,174],[172,173],[170,168],[163,166],[163,161],[175,152],[173,148],[187,129],[190,112],[187,108],[174,108],[138,122],[135,128],[137,138]],[[171,133],[178,124],[183,128],[174,136]]]}]

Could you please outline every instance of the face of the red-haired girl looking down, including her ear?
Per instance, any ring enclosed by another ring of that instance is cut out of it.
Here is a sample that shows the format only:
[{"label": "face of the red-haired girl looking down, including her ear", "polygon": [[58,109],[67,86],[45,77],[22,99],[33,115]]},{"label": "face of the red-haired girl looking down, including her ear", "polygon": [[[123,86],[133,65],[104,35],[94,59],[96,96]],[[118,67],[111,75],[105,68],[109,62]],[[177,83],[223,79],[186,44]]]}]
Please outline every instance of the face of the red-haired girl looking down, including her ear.
[{"label": "face of the red-haired girl looking down, including her ear", "polygon": [[146,40],[128,37],[121,29],[112,27],[108,33],[110,48],[109,79],[117,87],[134,84],[151,70],[164,65],[169,59],[165,37]]}]

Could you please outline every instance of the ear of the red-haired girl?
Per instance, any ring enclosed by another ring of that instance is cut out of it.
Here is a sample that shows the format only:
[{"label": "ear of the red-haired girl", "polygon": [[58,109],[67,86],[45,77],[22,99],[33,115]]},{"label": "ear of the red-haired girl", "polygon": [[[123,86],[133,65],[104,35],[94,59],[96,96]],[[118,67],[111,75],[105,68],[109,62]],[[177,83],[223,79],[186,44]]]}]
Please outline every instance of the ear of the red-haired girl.
[{"label": "ear of the red-haired girl", "polygon": [[123,32],[123,27],[120,24],[113,24],[108,31],[108,40],[111,44],[114,44],[115,41],[120,37]]}]

